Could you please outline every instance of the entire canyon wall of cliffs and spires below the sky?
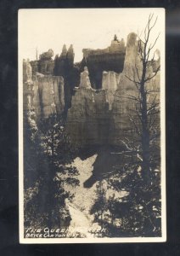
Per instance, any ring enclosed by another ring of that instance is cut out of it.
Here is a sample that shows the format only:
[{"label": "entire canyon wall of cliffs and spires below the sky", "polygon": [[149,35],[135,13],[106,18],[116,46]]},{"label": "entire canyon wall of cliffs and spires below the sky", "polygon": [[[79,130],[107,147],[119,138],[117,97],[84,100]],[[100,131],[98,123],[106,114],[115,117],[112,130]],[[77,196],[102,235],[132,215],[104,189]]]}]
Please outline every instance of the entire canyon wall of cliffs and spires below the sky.
[{"label": "entire canyon wall of cliffs and spires below the sky", "polygon": [[[132,132],[133,120],[138,124],[136,99],[139,92],[132,80],[138,80],[143,69],[137,35],[128,35],[126,47],[123,40],[114,38],[110,47],[84,49],[83,54],[78,66],[74,64],[72,45],[68,50],[64,45],[61,55],[57,55],[54,61],[51,49],[40,55],[39,61],[31,61],[31,65],[24,61],[24,110],[35,109],[37,119],[48,118],[50,113],[66,113],[66,131],[72,143],[82,146],[121,145],[122,138]],[[147,76],[154,75],[160,65],[160,52],[158,55],[157,61],[149,61]],[[53,61],[50,73],[45,65],[47,61],[49,65]],[[97,86],[99,73],[100,84]],[[151,91],[148,104],[154,99],[160,102],[160,72],[149,80],[146,87]],[[157,118],[156,125],[160,125],[160,118]]]}]

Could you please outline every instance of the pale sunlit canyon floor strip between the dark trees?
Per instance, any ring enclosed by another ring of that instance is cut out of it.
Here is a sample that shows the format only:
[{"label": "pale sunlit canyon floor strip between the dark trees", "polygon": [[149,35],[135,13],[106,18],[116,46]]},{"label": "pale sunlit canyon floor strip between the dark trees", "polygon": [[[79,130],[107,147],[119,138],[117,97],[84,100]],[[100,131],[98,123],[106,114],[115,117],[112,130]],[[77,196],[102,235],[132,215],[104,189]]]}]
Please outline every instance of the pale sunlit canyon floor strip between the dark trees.
[{"label": "pale sunlit canyon floor strip between the dark trees", "polygon": [[93,237],[91,230],[94,227],[93,215],[90,214],[91,207],[96,199],[96,183],[91,188],[85,188],[84,182],[93,174],[93,163],[97,158],[97,154],[81,160],[77,157],[71,166],[75,166],[79,171],[78,179],[80,181],[79,186],[71,188],[66,186],[66,189],[70,189],[70,192],[74,194],[72,201],[66,201],[66,205],[70,211],[70,228],[69,231],[72,234],[81,233],[82,237]]}]

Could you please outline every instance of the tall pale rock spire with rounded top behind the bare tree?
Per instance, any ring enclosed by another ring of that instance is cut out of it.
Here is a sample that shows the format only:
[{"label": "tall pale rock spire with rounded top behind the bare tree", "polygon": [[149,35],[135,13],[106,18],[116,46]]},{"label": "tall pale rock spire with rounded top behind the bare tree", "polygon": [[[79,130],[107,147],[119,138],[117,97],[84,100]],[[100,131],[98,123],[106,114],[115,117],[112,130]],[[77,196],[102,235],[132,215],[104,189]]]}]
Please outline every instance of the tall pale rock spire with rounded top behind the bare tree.
[{"label": "tall pale rock spire with rounded top behind the bare tree", "polygon": [[[138,69],[138,73],[137,73]],[[149,67],[146,74],[153,75],[153,68]],[[135,33],[130,33],[127,37],[127,49],[124,62],[124,68],[119,76],[117,90],[112,106],[111,121],[110,121],[110,142],[116,145],[121,144],[123,137],[128,137],[130,131],[133,130],[131,118],[136,120],[138,124],[138,116],[136,113],[139,104],[134,98],[138,98],[138,89],[130,80],[138,81],[138,76],[142,75],[142,61],[138,53],[138,40]],[[154,90],[148,97],[149,105],[155,99],[156,102],[160,99],[160,74],[158,73],[154,79],[146,84],[148,90]]]}]

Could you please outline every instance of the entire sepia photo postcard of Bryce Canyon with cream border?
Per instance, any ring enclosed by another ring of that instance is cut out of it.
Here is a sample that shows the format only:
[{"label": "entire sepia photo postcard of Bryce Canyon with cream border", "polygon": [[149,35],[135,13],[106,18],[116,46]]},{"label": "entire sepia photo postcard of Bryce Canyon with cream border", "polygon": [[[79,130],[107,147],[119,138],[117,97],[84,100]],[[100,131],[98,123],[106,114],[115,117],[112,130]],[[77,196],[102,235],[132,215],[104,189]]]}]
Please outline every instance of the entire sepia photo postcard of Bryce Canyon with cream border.
[{"label": "entire sepia photo postcard of Bryce Canyon with cream border", "polygon": [[165,9],[20,9],[20,243],[166,241]]}]

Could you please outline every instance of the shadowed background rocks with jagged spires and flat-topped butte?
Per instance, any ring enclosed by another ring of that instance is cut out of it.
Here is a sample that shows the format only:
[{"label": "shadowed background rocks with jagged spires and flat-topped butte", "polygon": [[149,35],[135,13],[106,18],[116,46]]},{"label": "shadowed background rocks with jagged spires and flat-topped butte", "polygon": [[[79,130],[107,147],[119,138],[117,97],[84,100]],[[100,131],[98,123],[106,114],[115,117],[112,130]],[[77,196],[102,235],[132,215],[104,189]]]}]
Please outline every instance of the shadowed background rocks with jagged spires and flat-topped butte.
[{"label": "shadowed background rocks with jagged spires and flat-topped butte", "polygon": [[74,88],[80,84],[80,73],[87,66],[89,77],[94,89],[102,88],[102,72],[114,71],[120,73],[123,68],[125,56],[125,43],[116,37],[111,41],[110,47],[106,49],[83,49],[83,59],[80,63],[74,63],[74,49],[70,44],[66,49],[64,44],[60,55],[53,60],[53,50],[39,56],[39,60],[31,61],[32,73],[44,75],[62,76],[65,83],[65,113],[71,106],[71,96]]}]

